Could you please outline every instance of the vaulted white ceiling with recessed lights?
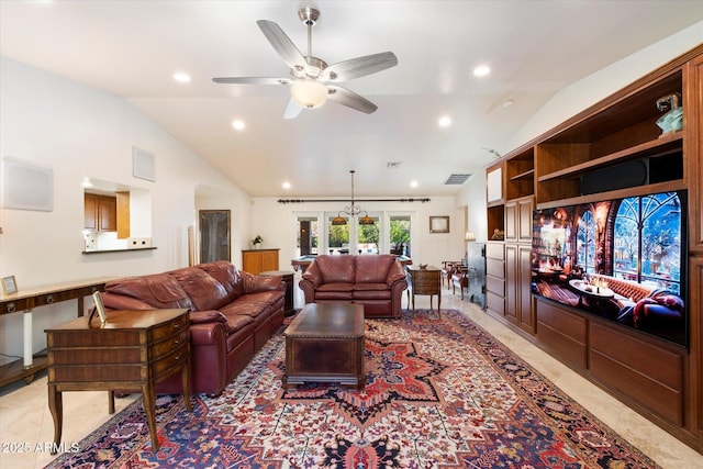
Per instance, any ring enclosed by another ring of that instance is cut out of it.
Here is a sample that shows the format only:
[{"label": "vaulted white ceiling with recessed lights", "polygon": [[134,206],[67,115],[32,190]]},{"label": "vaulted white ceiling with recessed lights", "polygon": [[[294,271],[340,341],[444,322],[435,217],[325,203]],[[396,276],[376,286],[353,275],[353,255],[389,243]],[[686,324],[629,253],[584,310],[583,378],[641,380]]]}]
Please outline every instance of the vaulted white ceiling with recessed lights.
[{"label": "vaulted white ceiling with recessed lights", "polygon": [[[212,82],[288,76],[256,21],[278,23],[304,54],[301,4],[322,13],[312,48],[328,64],[398,56],[344,83],[378,111],[327,102],[284,120],[287,86]],[[509,150],[560,89],[701,20],[703,2],[666,0],[1,0],[0,53],[125,98],[252,196],[347,196],[355,169],[357,196],[422,197],[455,193],[451,174]],[[480,64],[489,76],[473,76]]]}]

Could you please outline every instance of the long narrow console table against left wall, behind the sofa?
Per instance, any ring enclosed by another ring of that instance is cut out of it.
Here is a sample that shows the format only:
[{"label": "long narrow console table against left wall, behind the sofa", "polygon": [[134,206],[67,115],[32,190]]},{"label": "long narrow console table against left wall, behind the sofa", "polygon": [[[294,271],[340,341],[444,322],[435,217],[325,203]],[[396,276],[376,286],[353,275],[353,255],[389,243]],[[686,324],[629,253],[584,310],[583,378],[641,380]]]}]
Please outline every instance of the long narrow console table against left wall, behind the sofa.
[{"label": "long narrow console table against left wall, behind the sofa", "polygon": [[46,357],[34,357],[32,344],[32,310],[38,306],[78,300],[78,316],[83,315],[83,297],[103,291],[113,278],[75,281],[0,294],[0,314],[23,313],[23,360],[0,366],[0,388],[24,379],[29,384],[37,371],[46,368]]}]

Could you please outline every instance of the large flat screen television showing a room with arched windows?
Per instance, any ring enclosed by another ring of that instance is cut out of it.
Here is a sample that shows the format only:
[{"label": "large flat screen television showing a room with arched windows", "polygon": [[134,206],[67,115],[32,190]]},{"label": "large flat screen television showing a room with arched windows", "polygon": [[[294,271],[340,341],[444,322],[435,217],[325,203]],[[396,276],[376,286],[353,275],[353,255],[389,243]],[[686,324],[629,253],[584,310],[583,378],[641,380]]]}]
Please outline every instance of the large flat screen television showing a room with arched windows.
[{"label": "large flat screen television showing a room with arched windows", "polygon": [[687,192],[533,212],[532,290],[685,346]]}]

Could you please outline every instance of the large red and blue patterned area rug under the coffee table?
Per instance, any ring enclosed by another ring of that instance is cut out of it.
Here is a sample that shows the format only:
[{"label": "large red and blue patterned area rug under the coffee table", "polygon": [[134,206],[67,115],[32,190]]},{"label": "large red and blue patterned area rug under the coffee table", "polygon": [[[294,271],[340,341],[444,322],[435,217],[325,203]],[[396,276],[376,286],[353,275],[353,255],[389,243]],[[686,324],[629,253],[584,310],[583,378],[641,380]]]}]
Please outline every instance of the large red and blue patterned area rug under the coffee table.
[{"label": "large red and blue patterned area rug under the coffee table", "polygon": [[283,390],[282,330],[217,398],[141,400],[48,468],[656,468],[464,314],[366,321],[367,386]]}]

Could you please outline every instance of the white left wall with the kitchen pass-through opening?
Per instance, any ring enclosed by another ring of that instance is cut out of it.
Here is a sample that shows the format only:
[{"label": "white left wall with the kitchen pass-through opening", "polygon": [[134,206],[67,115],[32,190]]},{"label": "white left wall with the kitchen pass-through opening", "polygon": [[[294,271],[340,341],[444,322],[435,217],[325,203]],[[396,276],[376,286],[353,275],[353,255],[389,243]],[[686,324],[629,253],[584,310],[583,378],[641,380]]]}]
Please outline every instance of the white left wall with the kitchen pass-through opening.
[{"label": "white left wall with the kitchen pass-through opening", "polygon": [[[54,171],[52,212],[0,209],[1,277],[13,275],[27,289],[186,266],[196,187],[203,183],[227,194],[217,209],[231,209],[238,232],[249,232],[248,196],[129,102],[0,60],[0,156]],[[132,146],[155,155],[155,182],[132,176]],[[156,250],[81,254],[85,176],[150,191]],[[45,346],[43,330],[74,317],[76,308],[69,301],[34,312],[35,351]],[[22,313],[0,315],[0,353],[21,354],[21,323]]]}]

